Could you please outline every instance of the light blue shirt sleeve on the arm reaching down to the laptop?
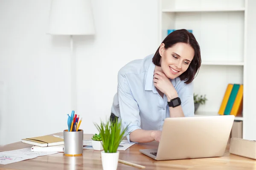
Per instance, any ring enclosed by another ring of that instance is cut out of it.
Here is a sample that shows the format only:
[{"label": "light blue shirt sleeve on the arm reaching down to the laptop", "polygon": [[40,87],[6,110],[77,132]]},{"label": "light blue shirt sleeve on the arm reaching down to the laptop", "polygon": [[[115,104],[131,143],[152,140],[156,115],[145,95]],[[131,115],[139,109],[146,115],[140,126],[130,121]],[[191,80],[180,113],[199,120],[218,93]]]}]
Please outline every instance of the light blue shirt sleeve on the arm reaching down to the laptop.
[{"label": "light blue shirt sleeve on the arm reaching down to the laptop", "polygon": [[130,133],[140,127],[140,109],[135,101],[125,75],[118,75],[118,99],[122,126],[127,127],[126,137],[130,143]]}]

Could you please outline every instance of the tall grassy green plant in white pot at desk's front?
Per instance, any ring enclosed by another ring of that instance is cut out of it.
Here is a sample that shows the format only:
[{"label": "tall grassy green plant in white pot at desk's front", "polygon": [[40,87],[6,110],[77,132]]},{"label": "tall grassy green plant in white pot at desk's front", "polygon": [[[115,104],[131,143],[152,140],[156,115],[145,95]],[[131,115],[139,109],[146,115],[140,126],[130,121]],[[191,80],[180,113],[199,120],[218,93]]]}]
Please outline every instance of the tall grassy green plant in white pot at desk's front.
[{"label": "tall grassy green plant in white pot at desk's front", "polygon": [[117,148],[124,138],[127,127],[122,128],[121,121],[115,118],[113,121],[101,121],[100,125],[95,124],[102,138],[101,151],[103,170],[116,170],[119,160],[119,151]]}]

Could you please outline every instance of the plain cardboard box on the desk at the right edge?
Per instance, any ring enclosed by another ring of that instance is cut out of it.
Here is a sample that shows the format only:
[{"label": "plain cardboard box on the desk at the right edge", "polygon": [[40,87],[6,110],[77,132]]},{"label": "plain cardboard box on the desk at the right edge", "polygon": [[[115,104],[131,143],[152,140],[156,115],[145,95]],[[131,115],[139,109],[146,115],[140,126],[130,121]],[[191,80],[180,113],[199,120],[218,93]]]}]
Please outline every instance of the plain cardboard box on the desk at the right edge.
[{"label": "plain cardboard box on the desk at the right edge", "polygon": [[256,159],[256,141],[232,137],[229,152],[234,155]]}]

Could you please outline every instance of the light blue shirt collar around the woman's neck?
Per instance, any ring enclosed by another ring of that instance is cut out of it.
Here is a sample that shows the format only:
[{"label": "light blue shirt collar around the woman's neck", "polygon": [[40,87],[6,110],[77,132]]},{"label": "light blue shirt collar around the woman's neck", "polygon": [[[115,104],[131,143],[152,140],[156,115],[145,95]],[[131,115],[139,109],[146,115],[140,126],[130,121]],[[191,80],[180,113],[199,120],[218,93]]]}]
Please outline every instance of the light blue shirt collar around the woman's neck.
[{"label": "light blue shirt collar around the woman's neck", "polygon": [[[154,69],[155,69],[155,65],[153,62],[151,62],[148,67],[148,73],[145,81],[145,90],[149,90],[149,91],[152,90],[154,93],[157,93],[157,90],[154,86],[154,81],[153,81]],[[175,79],[170,79],[170,80],[172,82],[172,85],[175,87]]]}]

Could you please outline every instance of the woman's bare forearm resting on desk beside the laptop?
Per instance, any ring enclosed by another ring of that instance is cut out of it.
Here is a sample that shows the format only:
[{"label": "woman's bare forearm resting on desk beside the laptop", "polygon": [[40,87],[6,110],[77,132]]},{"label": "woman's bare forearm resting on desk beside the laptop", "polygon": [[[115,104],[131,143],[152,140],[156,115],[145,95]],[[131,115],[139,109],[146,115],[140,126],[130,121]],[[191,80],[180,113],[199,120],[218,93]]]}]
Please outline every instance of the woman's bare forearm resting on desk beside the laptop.
[{"label": "woman's bare forearm resting on desk beside the laptop", "polygon": [[142,130],[142,129],[134,130],[132,133],[130,133],[130,141],[139,142],[139,143],[154,141],[153,133],[154,133],[154,130]]}]

